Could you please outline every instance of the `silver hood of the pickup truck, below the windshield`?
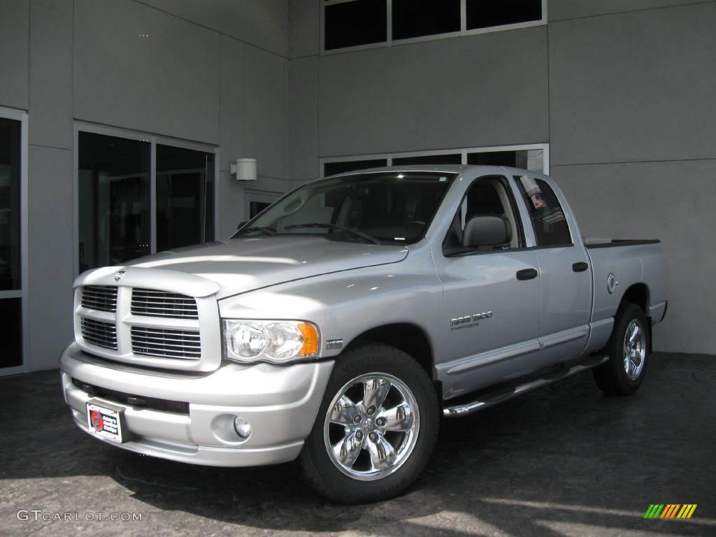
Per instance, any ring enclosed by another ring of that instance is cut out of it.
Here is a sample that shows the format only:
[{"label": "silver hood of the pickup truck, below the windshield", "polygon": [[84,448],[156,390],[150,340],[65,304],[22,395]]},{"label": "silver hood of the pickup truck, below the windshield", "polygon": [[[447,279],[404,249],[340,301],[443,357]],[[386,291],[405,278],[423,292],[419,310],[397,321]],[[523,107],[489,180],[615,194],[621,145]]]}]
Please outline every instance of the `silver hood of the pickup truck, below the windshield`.
[{"label": "silver hood of the pickup truck, below the windshield", "polygon": [[[276,236],[236,238],[164,251],[135,259],[127,266],[153,269],[147,274],[156,275],[161,270],[200,276],[218,284],[217,296],[223,299],[285,281],[397,263],[407,254],[408,248],[400,245],[339,242],[316,236]],[[135,278],[140,276],[138,271],[127,271],[130,272]]]}]

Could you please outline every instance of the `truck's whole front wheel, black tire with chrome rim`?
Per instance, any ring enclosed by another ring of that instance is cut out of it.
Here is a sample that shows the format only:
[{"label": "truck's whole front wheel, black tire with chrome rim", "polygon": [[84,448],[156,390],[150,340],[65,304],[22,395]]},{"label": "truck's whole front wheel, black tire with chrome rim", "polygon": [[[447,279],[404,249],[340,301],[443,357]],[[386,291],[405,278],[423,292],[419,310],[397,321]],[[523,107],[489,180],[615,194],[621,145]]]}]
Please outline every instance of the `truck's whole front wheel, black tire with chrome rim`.
[{"label": "truck's whole front wheel, black tire with chrome rim", "polygon": [[299,470],[330,500],[391,498],[425,468],[439,425],[422,367],[394,347],[363,344],[338,358]]}]

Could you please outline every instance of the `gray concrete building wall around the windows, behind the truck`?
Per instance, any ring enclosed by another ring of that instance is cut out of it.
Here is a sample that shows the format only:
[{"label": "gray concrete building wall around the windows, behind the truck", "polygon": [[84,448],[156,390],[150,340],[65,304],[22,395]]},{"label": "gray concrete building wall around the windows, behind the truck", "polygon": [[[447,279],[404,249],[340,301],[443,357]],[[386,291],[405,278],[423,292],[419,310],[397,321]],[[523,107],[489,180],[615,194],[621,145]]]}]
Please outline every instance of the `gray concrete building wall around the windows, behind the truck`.
[{"label": "gray concrete building wall around the windows, behind the truck", "polygon": [[71,332],[75,120],[216,145],[219,237],[321,157],[549,142],[584,233],[664,241],[657,349],[712,352],[716,2],[549,0],[546,26],[326,55],[322,5],[0,0],[0,106],[29,112],[31,369]]}]

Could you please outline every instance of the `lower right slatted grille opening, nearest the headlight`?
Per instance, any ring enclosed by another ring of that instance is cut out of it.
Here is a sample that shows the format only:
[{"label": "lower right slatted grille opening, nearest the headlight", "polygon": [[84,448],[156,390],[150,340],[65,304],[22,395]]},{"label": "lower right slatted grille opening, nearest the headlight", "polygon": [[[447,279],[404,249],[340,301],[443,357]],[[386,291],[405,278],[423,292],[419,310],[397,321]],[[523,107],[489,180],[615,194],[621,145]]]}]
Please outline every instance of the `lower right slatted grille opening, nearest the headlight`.
[{"label": "lower right slatted grille opening, nearest the headlight", "polygon": [[153,356],[183,360],[201,357],[199,332],[132,326],[132,352],[137,356]]}]

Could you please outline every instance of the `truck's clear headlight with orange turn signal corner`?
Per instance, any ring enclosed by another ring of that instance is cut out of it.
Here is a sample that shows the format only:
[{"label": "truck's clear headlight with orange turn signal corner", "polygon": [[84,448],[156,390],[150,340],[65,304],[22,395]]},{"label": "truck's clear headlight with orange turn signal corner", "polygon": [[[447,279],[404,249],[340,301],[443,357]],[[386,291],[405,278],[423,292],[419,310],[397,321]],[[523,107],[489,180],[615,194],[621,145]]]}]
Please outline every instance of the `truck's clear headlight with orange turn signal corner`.
[{"label": "truck's clear headlight with orange turn signal corner", "polygon": [[318,356],[319,330],[305,321],[223,319],[222,329],[226,357],[234,362],[285,364]]}]

